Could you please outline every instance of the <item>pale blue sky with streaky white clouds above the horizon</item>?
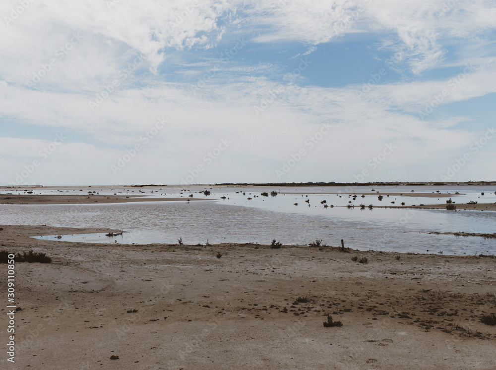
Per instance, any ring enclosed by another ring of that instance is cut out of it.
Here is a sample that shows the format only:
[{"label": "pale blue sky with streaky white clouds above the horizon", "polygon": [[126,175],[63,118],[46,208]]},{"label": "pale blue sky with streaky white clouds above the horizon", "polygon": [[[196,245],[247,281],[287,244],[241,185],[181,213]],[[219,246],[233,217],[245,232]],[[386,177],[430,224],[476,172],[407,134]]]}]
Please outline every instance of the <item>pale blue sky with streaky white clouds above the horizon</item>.
[{"label": "pale blue sky with streaky white clouds above the horizon", "polygon": [[0,185],[494,181],[488,0],[3,0]]}]

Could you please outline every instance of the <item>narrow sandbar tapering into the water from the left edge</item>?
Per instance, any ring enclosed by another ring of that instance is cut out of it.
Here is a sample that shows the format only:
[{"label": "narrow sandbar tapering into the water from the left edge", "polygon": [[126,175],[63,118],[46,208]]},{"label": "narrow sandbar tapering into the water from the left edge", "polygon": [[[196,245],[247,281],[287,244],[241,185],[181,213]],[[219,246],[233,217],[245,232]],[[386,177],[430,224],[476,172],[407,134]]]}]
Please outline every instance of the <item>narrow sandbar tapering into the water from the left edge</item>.
[{"label": "narrow sandbar tapering into the water from the left edge", "polygon": [[210,198],[147,198],[140,195],[2,195],[0,204],[93,204],[128,202],[211,201]]}]

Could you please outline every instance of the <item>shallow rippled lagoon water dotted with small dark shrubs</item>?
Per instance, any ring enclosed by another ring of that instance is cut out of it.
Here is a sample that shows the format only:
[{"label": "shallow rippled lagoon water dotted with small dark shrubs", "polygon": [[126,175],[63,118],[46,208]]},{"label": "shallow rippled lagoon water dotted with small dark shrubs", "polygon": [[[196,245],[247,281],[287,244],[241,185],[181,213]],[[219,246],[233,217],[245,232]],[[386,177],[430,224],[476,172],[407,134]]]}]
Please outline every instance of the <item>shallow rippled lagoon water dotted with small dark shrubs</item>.
[{"label": "shallow rippled lagoon water dotted with small dark shrubs", "polygon": [[[458,191],[466,195],[457,196],[453,201],[472,199],[480,203],[494,202],[492,187],[485,187],[484,199],[481,201],[480,189],[449,189],[438,188],[442,192]],[[166,197],[187,197],[191,190],[193,197],[205,196],[194,193],[209,187],[168,188]],[[82,188],[88,191],[87,188]],[[91,188],[90,188],[91,189]],[[100,190],[96,187],[94,190]],[[296,189],[296,188],[295,188]],[[50,190],[43,189],[48,192]],[[57,189],[60,190],[60,189]],[[131,193],[131,189],[128,189]],[[146,188],[142,191],[149,193]],[[381,250],[415,253],[443,254],[495,254],[495,239],[481,237],[456,237],[453,235],[433,235],[423,232],[474,232],[493,233],[496,225],[496,212],[490,211],[444,211],[444,210],[408,210],[408,209],[379,209],[360,210],[359,204],[389,205],[394,201],[408,204],[440,204],[447,198],[415,198],[388,197],[387,204],[377,200],[376,195],[366,195],[362,192],[371,189],[357,189],[358,198],[353,201],[348,194],[341,198],[332,194],[310,194],[319,192],[336,192],[342,189],[328,188],[299,188],[302,194],[279,194],[275,197],[263,197],[263,191],[294,191],[294,189],[279,188],[213,188],[209,189],[215,201],[209,202],[140,202],[126,204],[91,204],[91,205],[0,205],[0,223],[2,224],[49,224],[66,227],[109,227],[130,231],[117,238],[97,235],[64,235],[61,241],[82,241],[98,243],[177,243],[183,238],[186,244],[235,242],[269,244],[272,239],[280,240],[283,244],[308,244],[316,238],[323,239],[328,245],[338,246],[340,240],[345,245],[360,250]],[[375,188],[381,193],[387,189]],[[395,189],[396,190],[396,189]],[[428,189],[415,189],[417,192],[433,192]],[[464,191],[463,191],[464,190]],[[75,189],[75,191],[79,191]],[[122,189],[120,190],[122,191]],[[134,191],[137,190],[134,188]],[[236,191],[241,193],[236,194]],[[243,195],[242,192],[245,192]],[[403,191],[403,189],[400,189]],[[102,191],[99,191],[102,194]],[[111,190],[112,194],[115,190]],[[180,194],[180,193],[183,194]],[[406,192],[406,191],[405,191]],[[64,192],[67,194],[67,192]],[[69,193],[73,193],[73,190]],[[251,195],[249,195],[251,193]],[[52,193],[53,194],[53,193]],[[107,194],[110,194],[107,192]],[[139,194],[139,193],[138,193]],[[142,194],[142,193],[141,193]],[[222,200],[225,195],[229,199]],[[258,195],[258,197],[254,197]],[[308,198],[307,196],[308,195]],[[247,200],[252,197],[252,200]],[[490,198],[491,197],[491,198]],[[396,198],[396,200],[394,200]],[[482,198],[482,196],[481,196]],[[310,207],[305,200],[310,200]],[[334,204],[336,207],[324,209],[320,203]],[[349,201],[356,207],[344,207]],[[418,201],[420,200],[420,202]],[[416,202],[416,203],[414,203]],[[298,203],[298,206],[294,206]],[[466,203],[464,201],[463,203]],[[54,237],[43,237],[49,239]],[[55,239],[58,240],[58,239]],[[429,250],[429,252],[427,252]]]}]

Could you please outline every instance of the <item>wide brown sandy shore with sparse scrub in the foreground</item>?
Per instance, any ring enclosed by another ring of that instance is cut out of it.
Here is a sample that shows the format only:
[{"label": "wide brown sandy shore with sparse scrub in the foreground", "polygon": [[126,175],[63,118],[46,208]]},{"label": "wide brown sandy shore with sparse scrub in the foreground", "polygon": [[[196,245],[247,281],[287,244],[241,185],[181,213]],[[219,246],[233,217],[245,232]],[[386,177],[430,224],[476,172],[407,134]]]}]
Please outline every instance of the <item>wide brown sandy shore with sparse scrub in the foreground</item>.
[{"label": "wide brown sandy shore with sparse scrub in the foreground", "polygon": [[[496,327],[479,322],[496,312],[496,258],[85,244],[29,236],[116,230],[1,227],[1,249],[53,258],[16,264],[15,369],[496,368]],[[343,326],[323,327],[326,313]]]}]

